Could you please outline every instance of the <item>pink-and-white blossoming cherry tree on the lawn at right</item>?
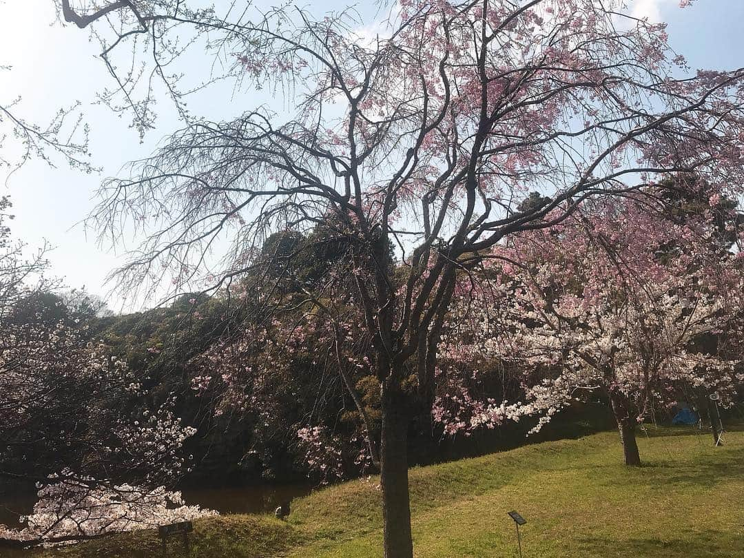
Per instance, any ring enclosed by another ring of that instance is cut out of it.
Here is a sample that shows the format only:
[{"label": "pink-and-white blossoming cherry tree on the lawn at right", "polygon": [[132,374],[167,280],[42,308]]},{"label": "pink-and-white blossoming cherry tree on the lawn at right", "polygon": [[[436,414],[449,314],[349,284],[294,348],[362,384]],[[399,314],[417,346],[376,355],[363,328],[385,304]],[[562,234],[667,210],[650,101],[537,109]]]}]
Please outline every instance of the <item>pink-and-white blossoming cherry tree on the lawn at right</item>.
[{"label": "pink-and-white blossoming cherry tree on the lawn at right", "polygon": [[541,415],[538,430],[571,400],[599,393],[626,464],[638,466],[635,427],[655,408],[699,388],[733,402],[744,376],[727,344],[741,329],[742,260],[713,238],[716,207],[684,219],[666,210],[650,196],[594,202],[493,250],[491,298],[472,312],[471,344],[458,347],[468,362],[475,354],[523,368],[527,401],[452,391],[440,405],[452,432],[525,414]]}]

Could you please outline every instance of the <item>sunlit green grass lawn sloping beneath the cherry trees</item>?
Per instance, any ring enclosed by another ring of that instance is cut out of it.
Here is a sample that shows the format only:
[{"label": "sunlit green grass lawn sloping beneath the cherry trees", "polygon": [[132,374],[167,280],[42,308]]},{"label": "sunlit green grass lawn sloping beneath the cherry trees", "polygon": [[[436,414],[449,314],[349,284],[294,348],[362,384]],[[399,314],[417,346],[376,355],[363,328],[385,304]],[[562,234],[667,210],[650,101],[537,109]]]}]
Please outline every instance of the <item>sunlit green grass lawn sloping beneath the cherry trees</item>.
[{"label": "sunlit green grass lawn sloping beneath the cherry trees", "polygon": [[[641,433],[640,469],[620,464],[615,432],[411,469],[415,554],[516,556],[506,514],[515,509],[527,519],[522,547],[529,557],[743,556],[744,432],[726,437],[726,446],[713,448],[709,434],[691,430]],[[268,516],[196,522],[189,556],[380,556],[377,484],[350,481],[301,498],[289,522]],[[169,556],[179,555],[176,547]],[[152,532],[31,554],[160,555]]]}]

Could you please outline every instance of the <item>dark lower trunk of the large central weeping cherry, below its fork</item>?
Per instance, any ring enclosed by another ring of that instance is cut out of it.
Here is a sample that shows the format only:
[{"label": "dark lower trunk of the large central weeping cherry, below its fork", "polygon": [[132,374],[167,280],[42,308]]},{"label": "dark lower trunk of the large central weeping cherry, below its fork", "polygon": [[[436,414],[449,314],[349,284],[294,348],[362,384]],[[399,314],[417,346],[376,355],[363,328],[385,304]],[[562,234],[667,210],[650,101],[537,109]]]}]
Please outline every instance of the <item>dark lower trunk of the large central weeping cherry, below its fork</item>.
[{"label": "dark lower trunk of the large central weeping cherry, below its fork", "polygon": [[411,506],[408,498],[408,405],[388,377],[382,385],[382,447],[380,484],[385,523],[385,558],[412,558]]}]

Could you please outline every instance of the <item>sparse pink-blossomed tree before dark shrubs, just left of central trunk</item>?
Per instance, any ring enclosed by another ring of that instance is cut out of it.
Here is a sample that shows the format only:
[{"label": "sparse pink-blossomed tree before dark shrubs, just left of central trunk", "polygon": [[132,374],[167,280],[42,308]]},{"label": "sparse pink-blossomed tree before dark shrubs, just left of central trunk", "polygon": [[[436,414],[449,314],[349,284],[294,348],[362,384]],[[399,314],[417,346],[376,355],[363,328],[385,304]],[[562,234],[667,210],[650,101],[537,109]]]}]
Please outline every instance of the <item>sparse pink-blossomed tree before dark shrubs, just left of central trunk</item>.
[{"label": "sparse pink-blossomed tree before dark shrubs, just left of central trunk", "polygon": [[379,467],[379,393],[370,387],[371,342],[344,274],[348,248],[327,231],[270,237],[261,255],[266,273],[230,291],[243,307],[234,327],[190,362],[194,388],[217,412],[254,417],[274,436],[291,432],[286,446],[297,447],[323,482]]}]

